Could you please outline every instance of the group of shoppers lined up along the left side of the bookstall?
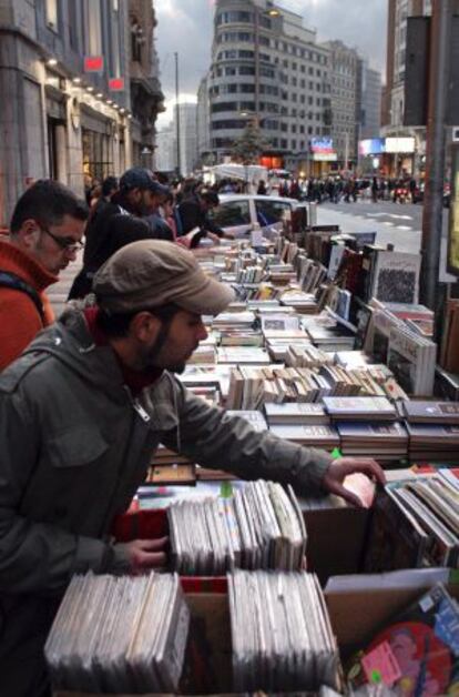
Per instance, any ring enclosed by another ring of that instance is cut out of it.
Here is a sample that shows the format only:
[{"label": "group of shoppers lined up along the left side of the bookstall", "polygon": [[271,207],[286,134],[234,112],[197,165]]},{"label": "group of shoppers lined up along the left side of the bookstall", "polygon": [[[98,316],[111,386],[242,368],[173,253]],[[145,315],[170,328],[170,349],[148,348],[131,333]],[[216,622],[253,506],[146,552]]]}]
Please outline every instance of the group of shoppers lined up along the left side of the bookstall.
[{"label": "group of shoppers lined up along the left side of the bookstall", "polygon": [[[88,205],[41,180],[19,199],[0,241],[2,695],[51,694],[43,646],[73,574],[167,567],[166,538],[111,536],[159,443],[241,478],[355,505],[347,475],[384,482],[373,459],[333,458],[256,432],[175,377],[207,336],[203,315],[233,300],[178,243],[193,226],[221,234],[206,218],[216,193],[188,183],[171,192],[134,168],[103,182]],[[45,289],[84,243],[71,293],[81,300],[54,321]]]}]

